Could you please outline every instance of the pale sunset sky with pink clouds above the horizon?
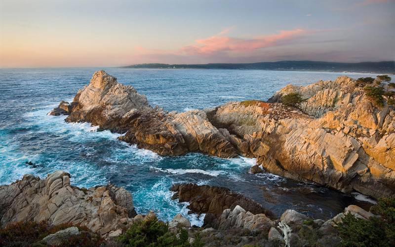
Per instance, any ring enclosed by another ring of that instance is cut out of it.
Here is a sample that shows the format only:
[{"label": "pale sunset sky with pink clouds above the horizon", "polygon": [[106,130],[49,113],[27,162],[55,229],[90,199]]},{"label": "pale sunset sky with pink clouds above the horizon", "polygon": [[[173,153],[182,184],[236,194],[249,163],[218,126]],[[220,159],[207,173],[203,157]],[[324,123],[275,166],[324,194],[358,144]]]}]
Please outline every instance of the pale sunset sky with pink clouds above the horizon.
[{"label": "pale sunset sky with pink clouds above the horizon", "polygon": [[0,0],[0,67],[395,60],[395,0]]}]

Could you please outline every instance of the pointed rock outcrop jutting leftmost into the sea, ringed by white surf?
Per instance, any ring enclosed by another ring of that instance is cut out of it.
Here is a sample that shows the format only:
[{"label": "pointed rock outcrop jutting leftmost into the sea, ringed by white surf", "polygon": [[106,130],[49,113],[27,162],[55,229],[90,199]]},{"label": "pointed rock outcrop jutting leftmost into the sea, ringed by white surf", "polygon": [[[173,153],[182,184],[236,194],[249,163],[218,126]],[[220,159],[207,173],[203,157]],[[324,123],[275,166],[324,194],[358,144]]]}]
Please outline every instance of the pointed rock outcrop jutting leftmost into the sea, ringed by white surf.
[{"label": "pointed rock outcrop jutting leftmost into the sea, ringed by white surf", "polygon": [[89,122],[101,129],[125,133],[119,139],[159,155],[199,151],[223,158],[236,149],[207,119],[203,111],[168,113],[152,108],[146,96],[117,78],[97,71],[72,103],[62,101],[50,115],[69,115],[66,122]]}]

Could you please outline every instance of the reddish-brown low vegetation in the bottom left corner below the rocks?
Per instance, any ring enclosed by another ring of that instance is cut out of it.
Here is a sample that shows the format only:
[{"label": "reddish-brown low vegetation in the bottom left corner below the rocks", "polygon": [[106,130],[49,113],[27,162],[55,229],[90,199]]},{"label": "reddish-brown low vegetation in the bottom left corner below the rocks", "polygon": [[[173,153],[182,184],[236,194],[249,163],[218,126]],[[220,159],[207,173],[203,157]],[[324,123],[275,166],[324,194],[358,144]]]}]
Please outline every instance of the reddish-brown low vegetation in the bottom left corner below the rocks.
[{"label": "reddish-brown low vegetation in the bottom left corner below the rocks", "polygon": [[19,221],[11,223],[0,229],[0,246],[45,246],[43,238],[58,231],[76,226],[80,234],[62,240],[62,247],[94,247],[100,246],[103,240],[92,233],[87,227],[73,225],[72,223],[51,226],[45,221]]}]

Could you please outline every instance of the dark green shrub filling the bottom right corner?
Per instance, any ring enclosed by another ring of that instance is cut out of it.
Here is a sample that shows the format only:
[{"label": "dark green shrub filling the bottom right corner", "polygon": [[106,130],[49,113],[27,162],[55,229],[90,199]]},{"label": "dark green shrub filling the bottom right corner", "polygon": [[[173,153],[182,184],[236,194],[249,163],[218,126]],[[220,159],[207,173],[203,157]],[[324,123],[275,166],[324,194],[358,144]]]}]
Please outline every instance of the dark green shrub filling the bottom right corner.
[{"label": "dark green shrub filling the bottom right corner", "polygon": [[395,199],[380,199],[371,211],[379,216],[368,220],[356,218],[348,213],[343,222],[336,226],[346,247],[390,247],[395,246]]}]

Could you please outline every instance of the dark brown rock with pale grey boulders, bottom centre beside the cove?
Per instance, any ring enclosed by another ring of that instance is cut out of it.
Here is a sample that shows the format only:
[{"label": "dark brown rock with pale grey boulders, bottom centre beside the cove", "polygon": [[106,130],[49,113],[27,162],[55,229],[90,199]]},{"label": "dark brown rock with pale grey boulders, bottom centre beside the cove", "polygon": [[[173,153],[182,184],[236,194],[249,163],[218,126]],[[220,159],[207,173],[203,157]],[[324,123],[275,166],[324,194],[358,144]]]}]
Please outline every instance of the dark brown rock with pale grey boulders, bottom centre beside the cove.
[{"label": "dark brown rock with pale grey boulders, bottom centre beside the cove", "polygon": [[[205,213],[204,227],[226,230],[245,228],[249,230],[267,227],[272,224],[274,214],[241,194],[234,193],[225,187],[175,184],[172,199],[189,202],[187,208],[194,213]],[[245,208],[245,209],[244,209]]]}]

